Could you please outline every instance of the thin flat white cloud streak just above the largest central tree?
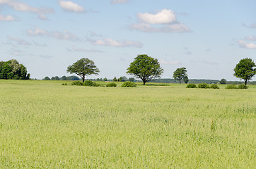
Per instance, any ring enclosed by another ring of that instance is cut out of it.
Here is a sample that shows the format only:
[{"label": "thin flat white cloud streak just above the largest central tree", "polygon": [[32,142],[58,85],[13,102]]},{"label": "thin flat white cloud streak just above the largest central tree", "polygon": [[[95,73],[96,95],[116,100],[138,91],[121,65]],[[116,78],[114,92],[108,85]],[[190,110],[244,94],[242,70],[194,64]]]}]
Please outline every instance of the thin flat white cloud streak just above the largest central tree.
[{"label": "thin flat white cloud streak just above the largest central tree", "polygon": [[136,42],[131,40],[117,41],[109,38],[104,38],[104,39],[88,39],[88,41],[91,42],[91,44],[103,45],[103,46],[136,47],[136,48],[141,48],[143,46],[141,42]]}]

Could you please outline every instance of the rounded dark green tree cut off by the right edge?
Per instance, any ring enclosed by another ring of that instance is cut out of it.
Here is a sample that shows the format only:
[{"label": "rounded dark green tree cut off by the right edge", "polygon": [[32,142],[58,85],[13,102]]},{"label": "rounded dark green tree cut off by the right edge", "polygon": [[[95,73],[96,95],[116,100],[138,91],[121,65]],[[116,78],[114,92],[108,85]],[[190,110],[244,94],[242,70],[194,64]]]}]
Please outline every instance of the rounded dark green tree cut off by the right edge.
[{"label": "rounded dark green tree cut off by the right edge", "polygon": [[248,80],[251,80],[252,77],[256,74],[255,63],[251,58],[243,58],[234,68],[234,76],[240,79],[245,80],[245,86]]}]

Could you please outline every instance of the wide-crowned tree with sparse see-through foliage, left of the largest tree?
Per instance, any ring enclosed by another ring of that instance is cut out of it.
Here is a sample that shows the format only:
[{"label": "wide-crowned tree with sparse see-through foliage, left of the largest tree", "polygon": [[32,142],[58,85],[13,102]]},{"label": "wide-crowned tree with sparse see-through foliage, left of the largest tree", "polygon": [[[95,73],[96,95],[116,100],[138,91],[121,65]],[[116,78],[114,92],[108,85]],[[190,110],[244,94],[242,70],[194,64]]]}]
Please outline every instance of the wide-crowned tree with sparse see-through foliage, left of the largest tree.
[{"label": "wide-crowned tree with sparse see-through foliage, left of the largest tree", "polygon": [[88,58],[81,58],[73,65],[69,65],[66,70],[67,73],[75,73],[80,76],[84,82],[86,75],[98,75],[100,70],[94,65],[94,62]]}]

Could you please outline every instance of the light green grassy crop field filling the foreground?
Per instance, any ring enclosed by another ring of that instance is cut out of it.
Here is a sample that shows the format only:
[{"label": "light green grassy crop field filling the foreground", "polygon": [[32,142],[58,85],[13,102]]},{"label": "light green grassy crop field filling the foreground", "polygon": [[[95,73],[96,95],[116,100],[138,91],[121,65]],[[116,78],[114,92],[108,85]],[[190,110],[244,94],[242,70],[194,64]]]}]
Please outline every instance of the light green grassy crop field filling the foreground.
[{"label": "light green grassy crop field filling the foreground", "polygon": [[256,166],[255,85],[62,82],[0,80],[0,168]]}]

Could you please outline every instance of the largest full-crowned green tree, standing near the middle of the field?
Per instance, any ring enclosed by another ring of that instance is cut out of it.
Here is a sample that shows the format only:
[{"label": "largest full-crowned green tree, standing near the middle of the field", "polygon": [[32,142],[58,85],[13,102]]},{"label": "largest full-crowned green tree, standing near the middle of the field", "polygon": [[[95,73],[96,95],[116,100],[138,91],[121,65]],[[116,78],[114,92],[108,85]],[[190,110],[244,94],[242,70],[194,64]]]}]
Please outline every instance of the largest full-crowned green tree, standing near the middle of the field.
[{"label": "largest full-crowned green tree, standing near the middle of the field", "polygon": [[158,60],[146,54],[138,55],[134,58],[134,61],[130,63],[127,70],[128,74],[141,79],[143,84],[153,78],[160,77],[163,73],[163,68],[160,67]]}]

